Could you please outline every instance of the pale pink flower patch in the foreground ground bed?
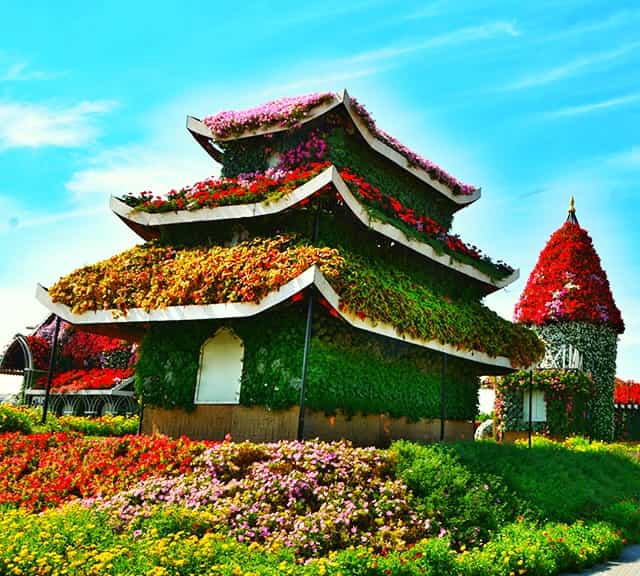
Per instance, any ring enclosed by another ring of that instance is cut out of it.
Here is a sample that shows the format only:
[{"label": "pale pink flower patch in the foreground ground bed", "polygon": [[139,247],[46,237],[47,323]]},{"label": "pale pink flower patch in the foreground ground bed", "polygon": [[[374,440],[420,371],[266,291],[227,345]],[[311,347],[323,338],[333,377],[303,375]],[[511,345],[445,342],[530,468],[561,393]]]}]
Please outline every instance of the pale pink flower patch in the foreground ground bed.
[{"label": "pale pink flower patch in the foreground ground bed", "polygon": [[130,530],[158,507],[178,505],[200,511],[211,530],[300,557],[350,545],[401,549],[428,524],[411,510],[392,458],[346,442],[224,443],[195,459],[191,474],[149,479],[85,505]]}]

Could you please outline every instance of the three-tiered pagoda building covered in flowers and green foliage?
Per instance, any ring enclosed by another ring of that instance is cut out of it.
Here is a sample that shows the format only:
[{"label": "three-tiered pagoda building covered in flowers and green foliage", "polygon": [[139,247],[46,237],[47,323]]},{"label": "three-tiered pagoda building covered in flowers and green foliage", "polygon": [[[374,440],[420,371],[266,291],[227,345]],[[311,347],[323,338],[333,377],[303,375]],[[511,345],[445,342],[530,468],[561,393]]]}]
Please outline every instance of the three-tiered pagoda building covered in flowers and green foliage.
[{"label": "three-tiered pagoda building covered in flowers and green foliage", "polygon": [[470,437],[479,375],[541,356],[481,303],[517,271],[450,232],[480,190],[346,92],[187,128],[221,177],[113,198],[146,242],[38,291],[65,320],[140,342],[144,430]]}]

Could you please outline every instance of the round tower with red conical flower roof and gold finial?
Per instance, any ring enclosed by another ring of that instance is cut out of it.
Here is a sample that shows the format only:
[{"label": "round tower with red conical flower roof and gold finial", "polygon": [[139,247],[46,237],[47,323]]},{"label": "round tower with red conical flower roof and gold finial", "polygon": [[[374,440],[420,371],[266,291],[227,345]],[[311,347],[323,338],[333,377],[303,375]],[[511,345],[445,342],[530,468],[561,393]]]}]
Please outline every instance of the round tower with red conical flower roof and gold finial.
[{"label": "round tower with red conical flower roof and gold finial", "polygon": [[617,341],[624,323],[591,237],[578,223],[573,198],[565,223],[551,235],[529,276],[515,320],[544,340],[545,367],[591,374],[589,432],[611,440]]}]

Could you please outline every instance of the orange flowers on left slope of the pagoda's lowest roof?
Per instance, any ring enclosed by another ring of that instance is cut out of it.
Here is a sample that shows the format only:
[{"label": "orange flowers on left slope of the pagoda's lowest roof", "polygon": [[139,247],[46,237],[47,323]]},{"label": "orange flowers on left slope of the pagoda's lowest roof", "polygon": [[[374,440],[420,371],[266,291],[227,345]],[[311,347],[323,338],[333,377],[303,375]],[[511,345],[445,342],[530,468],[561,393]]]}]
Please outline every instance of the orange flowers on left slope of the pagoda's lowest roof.
[{"label": "orange flowers on left slope of the pagoda's lowest roof", "polygon": [[49,294],[76,314],[259,302],[313,264],[331,278],[342,262],[337,250],[296,244],[291,236],[258,238],[229,248],[176,250],[149,243],[76,270]]}]

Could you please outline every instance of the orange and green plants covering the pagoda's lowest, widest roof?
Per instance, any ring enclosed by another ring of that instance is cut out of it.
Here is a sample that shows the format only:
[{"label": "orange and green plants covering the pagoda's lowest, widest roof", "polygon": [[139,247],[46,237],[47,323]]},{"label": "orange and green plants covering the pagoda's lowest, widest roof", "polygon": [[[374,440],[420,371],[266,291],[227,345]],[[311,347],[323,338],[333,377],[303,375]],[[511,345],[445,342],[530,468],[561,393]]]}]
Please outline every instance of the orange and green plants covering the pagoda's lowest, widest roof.
[{"label": "orange and green plants covering the pagoda's lowest, widest roof", "polygon": [[49,294],[78,314],[259,302],[314,264],[338,292],[345,310],[389,323],[403,334],[507,356],[515,365],[529,365],[543,353],[533,333],[479,302],[452,300],[416,284],[409,275],[288,236],[230,248],[175,250],[150,243],[77,270],[59,280]]}]

